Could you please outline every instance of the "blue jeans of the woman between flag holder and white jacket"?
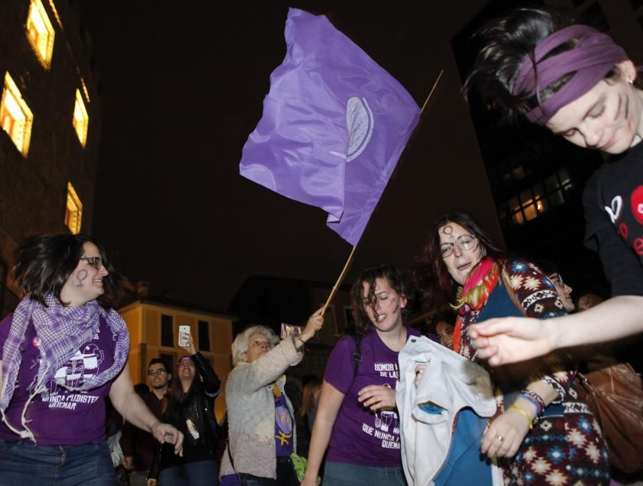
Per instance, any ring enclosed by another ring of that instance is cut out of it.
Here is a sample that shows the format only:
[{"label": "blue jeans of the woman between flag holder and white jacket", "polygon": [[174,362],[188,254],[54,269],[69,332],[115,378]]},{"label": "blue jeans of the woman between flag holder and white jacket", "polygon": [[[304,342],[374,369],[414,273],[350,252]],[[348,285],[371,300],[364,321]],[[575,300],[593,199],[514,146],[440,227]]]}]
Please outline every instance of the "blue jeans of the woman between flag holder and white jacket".
[{"label": "blue jeans of the woman between flag holder and white jacket", "polygon": [[326,461],[323,486],[405,486],[402,467],[356,466]]}]

